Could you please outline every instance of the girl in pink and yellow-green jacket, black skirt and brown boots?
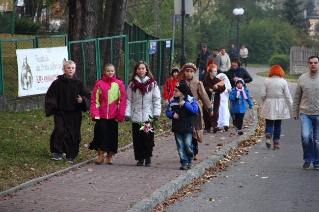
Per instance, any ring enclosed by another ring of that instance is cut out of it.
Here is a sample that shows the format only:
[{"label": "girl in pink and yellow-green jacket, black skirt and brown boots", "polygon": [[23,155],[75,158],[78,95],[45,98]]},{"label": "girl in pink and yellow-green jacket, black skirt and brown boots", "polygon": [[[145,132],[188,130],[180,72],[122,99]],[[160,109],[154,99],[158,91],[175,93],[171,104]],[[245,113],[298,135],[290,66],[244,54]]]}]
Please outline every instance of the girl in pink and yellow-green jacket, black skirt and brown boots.
[{"label": "girl in pink and yellow-green jacket, black skirt and brown boots", "polygon": [[126,108],[126,93],[122,80],[116,78],[115,67],[106,64],[103,77],[96,81],[91,97],[91,118],[94,138],[89,149],[98,151],[95,164],[102,164],[104,152],[106,164],[112,165],[112,155],[117,153],[118,122],[123,121]]}]

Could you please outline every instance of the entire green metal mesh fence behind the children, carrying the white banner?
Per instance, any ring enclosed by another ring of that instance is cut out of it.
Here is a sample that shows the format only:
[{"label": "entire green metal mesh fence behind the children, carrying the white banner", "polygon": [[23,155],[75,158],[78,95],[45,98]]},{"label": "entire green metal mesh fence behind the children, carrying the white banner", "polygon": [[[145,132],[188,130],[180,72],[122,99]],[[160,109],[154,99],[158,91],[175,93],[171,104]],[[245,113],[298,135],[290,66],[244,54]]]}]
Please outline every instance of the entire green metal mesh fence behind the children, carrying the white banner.
[{"label": "entire green metal mesh fence behind the children, carrying the white banner", "polygon": [[[67,46],[69,58],[77,64],[77,75],[92,90],[95,81],[101,77],[107,63],[119,57],[117,76],[127,87],[134,66],[145,61],[155,79],[163,86],[171,69],[172,48],[167,46],[171,39],[128,41],[128,35],[68,42],[67,35],[0,40],[0,93],[7,99],[18,97],[18,64],[16,49]],[[156,42],[156,51],[150,54],[150,43]],[[114,54],[115,43],[122,43],[120,54]],[[30,97],[30,96],[28,96]]]}]

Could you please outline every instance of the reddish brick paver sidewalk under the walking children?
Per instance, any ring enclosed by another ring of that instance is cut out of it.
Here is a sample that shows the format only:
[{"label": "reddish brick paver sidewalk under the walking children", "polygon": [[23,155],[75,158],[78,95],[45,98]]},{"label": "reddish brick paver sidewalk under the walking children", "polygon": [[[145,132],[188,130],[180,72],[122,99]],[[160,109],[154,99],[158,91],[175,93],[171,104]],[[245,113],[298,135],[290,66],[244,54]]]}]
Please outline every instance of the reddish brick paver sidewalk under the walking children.
[{"label": "reddish brick paver sidewalk under the walking children", "polygon": [[[253,112],[254,110],[254,112]],[[249,132],[256,109],[247,110],[243,131]],[[257,117],[256,117],[257,118]],[[251,132],[250,132],[251,133]],[[205,133],[199,145],[198,165],[226,144],[242,138],[228,132]],[[35,186],[0,198],[3,212],[125,212],[185,170],[180,170],[174,134],[155,139],[152,166],[136,166],[133,147],[118,152],[113,165],[87,164]],[[194,167],[192,167],[194,168]],[[133,209],[131,209],[132,211]]]}]

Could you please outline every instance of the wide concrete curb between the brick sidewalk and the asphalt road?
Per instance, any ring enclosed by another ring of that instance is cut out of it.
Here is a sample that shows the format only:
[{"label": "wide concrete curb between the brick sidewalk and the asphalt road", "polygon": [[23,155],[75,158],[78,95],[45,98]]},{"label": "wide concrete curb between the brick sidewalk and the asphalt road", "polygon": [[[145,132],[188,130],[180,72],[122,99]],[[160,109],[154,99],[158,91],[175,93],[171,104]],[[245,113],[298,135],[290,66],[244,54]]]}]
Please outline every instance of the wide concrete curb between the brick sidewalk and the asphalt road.
[{"label": "wide concrete curb between the brick sidewalk and the asphalt road", "polygon": [[186,173],[181,174],[177,178],[166,183],[164,186],[158,188],[148,197],[137,202],[131,207],[131,209],[126,212],[150,212],[155,206],[162,203],[167,197],[173,195],[177,190],[181,189],[183,185],[189,184],[193,179],[199,178],[205,174],[205,169],[209,168],[217,163],[217,161],[222,160],[231,150],[239,146],[239,143],[243,140],[248,140],[257,127],[258,123],[258,113],[257,108],[253,106],[253,117],[252,126],[247,130],[246,135],[242,135],[239,139],[236,139],[229,144],[225,145],[221,150],[210,158],[202,161],[200,164],[195,165],[193,168],[189,169]]}]

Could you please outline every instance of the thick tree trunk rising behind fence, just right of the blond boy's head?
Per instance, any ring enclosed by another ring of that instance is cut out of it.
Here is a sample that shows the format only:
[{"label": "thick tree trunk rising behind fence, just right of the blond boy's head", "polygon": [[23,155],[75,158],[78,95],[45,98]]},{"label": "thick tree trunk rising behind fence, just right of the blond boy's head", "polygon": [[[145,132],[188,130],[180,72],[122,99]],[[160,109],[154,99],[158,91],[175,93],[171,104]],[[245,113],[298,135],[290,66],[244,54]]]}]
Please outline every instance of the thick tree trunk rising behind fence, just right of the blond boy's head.
[{"label": "thick tree trunk rising behind fence, just right of the blond boy's head", "polygon": [[[69,8],[69,41],[96,38],[99,2],[95,0],[68,0],[67,5]],[[82,56],[81,44],[72,44],[70,51],[70,59],[74,60],[77,65],[76,71],[78,77],[83,81],[85,80],[85,84],[89,88],[93,87],[97,71],[95,43],[83,43],[84,58]]]}]

